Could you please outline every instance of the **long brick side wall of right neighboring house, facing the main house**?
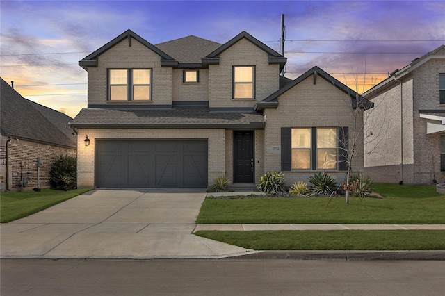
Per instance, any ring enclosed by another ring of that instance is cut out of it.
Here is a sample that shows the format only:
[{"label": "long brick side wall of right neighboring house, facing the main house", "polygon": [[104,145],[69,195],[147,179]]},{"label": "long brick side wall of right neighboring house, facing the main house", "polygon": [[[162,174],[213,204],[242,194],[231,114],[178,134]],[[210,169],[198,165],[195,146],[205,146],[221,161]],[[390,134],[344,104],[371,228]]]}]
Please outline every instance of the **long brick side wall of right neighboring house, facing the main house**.
[{"label": "long brick side wall of right neighboring house, facing the main house", "polygon": [[[369,97],[374,108],[364,113],[365,173],[375,182],[414,182],[412,77],[403,79],[402,85],[402,104],[401,86],[396,83],[386,92]],[[386,168],[382,170],[382,167]]]}]

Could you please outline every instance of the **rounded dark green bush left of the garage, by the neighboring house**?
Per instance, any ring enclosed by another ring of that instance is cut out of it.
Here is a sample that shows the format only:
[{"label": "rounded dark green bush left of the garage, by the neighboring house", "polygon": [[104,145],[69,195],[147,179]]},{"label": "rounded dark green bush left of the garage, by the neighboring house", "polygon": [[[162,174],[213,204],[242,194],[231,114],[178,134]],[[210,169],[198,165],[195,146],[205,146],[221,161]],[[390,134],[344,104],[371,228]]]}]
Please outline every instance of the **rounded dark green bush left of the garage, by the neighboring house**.
[{"label": "rounded dark green bush left of the garage, by the neighboring house", "polygon": [[59,156],[51,165],[49,171],[51,187],[58,190],[76,188],[76,158],[74,156]]}]

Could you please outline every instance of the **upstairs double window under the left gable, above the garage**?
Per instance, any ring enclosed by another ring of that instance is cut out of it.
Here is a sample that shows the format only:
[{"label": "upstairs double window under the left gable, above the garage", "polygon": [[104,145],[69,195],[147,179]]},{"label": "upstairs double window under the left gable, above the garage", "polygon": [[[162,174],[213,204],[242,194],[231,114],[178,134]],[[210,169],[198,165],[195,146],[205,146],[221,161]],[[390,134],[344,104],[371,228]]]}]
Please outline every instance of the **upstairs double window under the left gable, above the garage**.
[{"label": "upstairs double window under the left gable, above the garage", "polygon": [[110,101],[149,101],[152,99],[151,69],[110,69]]}]

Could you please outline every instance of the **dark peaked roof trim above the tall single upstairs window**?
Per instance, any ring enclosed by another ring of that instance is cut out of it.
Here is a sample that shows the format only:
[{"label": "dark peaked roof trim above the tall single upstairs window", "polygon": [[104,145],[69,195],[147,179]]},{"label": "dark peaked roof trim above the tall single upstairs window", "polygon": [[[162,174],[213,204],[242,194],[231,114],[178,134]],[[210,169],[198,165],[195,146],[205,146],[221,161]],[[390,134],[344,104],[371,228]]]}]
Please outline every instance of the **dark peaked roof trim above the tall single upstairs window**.
[{"label": "dark peaked roof trim above the tall single upstairs window", "polygon": [[266,54],[268,54],[269,64],[280,64],[280,71],[284,68],[287,58],[284,58],[284,56],[282,56],[281,54],[278,54],[277,51],[271,49],[263,42],[257,40],[257,38],[254,38],[252,35],[250,35],[246,31],[239,33],[234,38],[232,38],[225,44],[221,45],[218,49],[211,52],[205,58],[202,58],[202,64],[204,64],[204,65],[205,64],[218,64],[220,55],[223,54],[224,51],[226,51],[227,49],[232,47],[234,44],[236,44],[236,42],[242,40],[243,38],[252,42],[252,44],[259,47],[259,49],[265,51]]}]

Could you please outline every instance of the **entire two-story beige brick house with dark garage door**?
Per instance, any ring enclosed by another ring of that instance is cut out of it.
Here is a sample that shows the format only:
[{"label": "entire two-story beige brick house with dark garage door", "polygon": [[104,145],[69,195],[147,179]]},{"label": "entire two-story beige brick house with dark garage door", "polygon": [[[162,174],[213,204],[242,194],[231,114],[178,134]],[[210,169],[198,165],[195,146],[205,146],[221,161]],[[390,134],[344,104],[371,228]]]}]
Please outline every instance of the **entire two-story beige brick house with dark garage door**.
[{"label": "entire two-story beige brick house with dark garage door", "polygon": [[[71,123],[79,188],[207,188],[216,176],[253,185],[270,170],[287,185],[322,169],[341,181],[339,142],[358,95],[318,67],[286,79],[285,63],[246,32],[156,46],[122,33],[79,61],[88,71],[88,108]],[[353,169],[363,170],[362,155]]]}]

